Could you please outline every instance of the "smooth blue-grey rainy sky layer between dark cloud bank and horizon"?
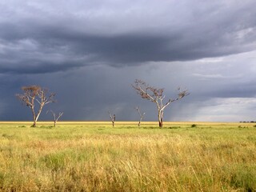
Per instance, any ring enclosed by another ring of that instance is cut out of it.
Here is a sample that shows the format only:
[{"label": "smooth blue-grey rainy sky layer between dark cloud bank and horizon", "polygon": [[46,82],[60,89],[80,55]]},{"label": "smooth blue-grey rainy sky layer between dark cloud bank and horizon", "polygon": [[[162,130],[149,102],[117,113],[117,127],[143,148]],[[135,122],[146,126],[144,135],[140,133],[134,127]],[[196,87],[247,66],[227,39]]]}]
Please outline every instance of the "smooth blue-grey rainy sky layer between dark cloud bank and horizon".
[{"label": "smooth blue-grey rainy sky layer between dark cloud bank and horizon", "polygon": [[[154,103],[138,97],[130,86],[139,77],[152,86],[164,87],[166,99],[175,97],[178,86],[189,89],[189,97],[166,109],[165,120],[225,121],[226,118],[226,121],[251,121],[256,103],[256,78],[252,73],[256,70],[256,60],[247,60],[243,66],[239,60],[254,54],[255,51],[226,57],[214,65],[198,61],[173,62],[171,65],[157,62],[146,66],[88,66],[55,74],[0,76],[3,81],[0,119],[31,118],[30,110],[20,105],[14,94],[20,92],[21,86],[33,83],[57,93],[58,102],[46,106],[45,111],[64,111],[62,119],[65,120],[108,120],[108,110],[116,114],[118,120],[136,120],[135,106],[146,112],[145,120],[157,120]],[[238,62],[233,62],[234,59]],[[202,79],[194,74],[205,75]],[[43,113],[40,119],[49,120],[50,117]]]}]

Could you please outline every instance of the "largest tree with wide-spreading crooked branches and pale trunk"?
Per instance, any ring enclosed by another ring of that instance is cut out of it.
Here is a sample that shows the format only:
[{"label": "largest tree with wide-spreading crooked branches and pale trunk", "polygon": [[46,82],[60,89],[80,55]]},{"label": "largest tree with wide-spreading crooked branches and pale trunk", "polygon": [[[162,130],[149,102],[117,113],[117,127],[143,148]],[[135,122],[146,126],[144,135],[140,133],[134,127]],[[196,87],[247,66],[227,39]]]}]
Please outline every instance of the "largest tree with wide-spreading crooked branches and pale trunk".
[{"label": "largest tree with wide-spreading crooked branches and pale trunk", "polygon": [[178,101],[179,99],[189,95],[187,90],[182,90],[181,88],[178,88],[178,97],[170,98],[166,103],[164,103],[163,100],[166,95],[163,95],[163,88],[158,89],[154,86],[149,86],[146,82],[143,82],[139,79],[136,79],[132,86],[134,90],[136,90],[137,94],[139,94],[142,98],[145,98],[150,102],[154,102],[157,105],[159,127],[162,127],[162,119],[166,106],[169,106],[171,102]]}]

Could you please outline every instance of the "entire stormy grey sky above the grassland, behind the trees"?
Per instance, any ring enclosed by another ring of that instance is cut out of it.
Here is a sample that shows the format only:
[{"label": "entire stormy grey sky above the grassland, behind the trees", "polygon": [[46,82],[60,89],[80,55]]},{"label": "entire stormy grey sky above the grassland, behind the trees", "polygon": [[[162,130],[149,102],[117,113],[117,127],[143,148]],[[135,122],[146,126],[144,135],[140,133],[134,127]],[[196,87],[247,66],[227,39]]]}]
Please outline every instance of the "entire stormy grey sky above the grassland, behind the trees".
[{"label": "entire stormy grey sky above the grassland, behind the trees", "polygon": [[136,78],[175,98],[166,121],[256,121],[254,0],[1,0],[0,121],[31,120],[15,94],[56,93],[62,120],[156,121]]}]

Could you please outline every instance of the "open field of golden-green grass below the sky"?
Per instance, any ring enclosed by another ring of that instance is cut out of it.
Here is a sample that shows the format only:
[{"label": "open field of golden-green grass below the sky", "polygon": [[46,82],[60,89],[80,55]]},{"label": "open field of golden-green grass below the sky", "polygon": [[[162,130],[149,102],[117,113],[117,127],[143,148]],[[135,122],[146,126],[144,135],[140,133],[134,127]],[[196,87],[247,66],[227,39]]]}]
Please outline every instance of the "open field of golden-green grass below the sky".
[{"label": "open field of golden-green grass below the sky", "polygon": [[0,122],[0,191],[256,191],[254,123],[31,125]]}]

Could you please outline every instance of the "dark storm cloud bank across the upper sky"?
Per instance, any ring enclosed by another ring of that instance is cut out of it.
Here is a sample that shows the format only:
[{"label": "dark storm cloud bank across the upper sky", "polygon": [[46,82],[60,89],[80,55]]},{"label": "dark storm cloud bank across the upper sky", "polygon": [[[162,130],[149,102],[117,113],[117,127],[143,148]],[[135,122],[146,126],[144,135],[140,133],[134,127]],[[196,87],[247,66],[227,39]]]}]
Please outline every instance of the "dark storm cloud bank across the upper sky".
[{"label": "dark storm cloud bank across the upper sky", "polygon": [[188,61],[256,48],[254,1],[97,2],[0,3],[2,73]]}]

